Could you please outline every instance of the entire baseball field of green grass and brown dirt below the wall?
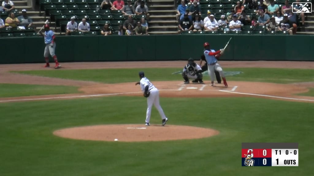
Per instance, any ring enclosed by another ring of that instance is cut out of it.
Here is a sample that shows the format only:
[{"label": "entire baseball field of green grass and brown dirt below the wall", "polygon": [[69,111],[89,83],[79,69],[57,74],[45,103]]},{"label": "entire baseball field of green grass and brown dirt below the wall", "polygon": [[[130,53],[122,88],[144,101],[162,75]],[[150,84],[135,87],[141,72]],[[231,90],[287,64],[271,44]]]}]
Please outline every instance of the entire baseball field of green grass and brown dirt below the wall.
[{"label": "entire baseball field of green grass and brown dirt below the wall", "polygon": [[[222,61],[227,88],[184,85],[186,63],[0,65],[0,175],[312,175],[314,62]],[[242,142],[298,142],[299,166],[241,167]]]}]

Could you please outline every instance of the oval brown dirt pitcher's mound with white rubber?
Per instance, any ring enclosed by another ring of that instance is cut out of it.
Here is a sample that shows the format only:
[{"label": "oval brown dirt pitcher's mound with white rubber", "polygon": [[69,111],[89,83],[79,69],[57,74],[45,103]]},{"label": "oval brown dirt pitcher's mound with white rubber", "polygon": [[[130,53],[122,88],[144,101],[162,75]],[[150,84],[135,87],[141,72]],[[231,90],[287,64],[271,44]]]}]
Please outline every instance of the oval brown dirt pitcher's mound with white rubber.
[{"label": "oval brown dirt pitcher's mound with white rubber", "polygon": [[180,139],[198,139],[219,134],[218,131],[192,126],[140,124],[96,125],[61,129],[53,132],[59,137],[92,141],[167,141]]}]

